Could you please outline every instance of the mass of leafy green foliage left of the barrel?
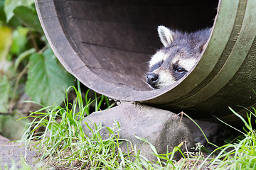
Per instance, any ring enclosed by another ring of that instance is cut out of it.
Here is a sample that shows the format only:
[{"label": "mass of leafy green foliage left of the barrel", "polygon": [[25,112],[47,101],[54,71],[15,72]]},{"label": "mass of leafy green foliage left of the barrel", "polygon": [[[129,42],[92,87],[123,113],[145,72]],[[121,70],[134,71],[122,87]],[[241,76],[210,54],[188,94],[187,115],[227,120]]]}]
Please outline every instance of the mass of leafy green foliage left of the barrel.
[{"label": "mass of leafy green foliage left of the barrel", "polygon": [[33,0],[0,0],[0,82],[0,113],[9,112],[23,93],[58,105],[74,84],[50,50]]}]

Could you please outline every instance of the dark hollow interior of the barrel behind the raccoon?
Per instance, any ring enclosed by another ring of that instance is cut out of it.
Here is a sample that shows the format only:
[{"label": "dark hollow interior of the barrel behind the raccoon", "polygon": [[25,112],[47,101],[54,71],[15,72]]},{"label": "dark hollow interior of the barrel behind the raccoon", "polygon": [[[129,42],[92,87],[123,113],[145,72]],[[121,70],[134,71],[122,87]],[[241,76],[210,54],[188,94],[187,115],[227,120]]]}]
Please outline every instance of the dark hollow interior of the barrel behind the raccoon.
[{"label": "dark hollow interior of the barrel behind the raccoon", "polygon": [[[213,26],[218,1],[55,1],[62,28],[80,60],[99,79],[134,91],[145,83],[161,47],[157,26],[195,31]],[[86,84],[86,83],[85,83]],[[92,84],[92,89],[99,84]],[[97,88],[96,88],[97,89]]]}]

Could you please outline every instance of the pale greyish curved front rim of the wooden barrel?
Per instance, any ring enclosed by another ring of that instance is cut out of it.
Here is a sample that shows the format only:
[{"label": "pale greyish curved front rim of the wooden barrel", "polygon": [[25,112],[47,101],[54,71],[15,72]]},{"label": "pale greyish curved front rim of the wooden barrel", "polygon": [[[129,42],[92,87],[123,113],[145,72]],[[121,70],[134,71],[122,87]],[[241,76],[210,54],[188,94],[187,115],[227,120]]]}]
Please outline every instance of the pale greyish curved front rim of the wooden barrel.
[{"label": "pale greyish curved front rim of the wooden barrel", "polygon": [[[171,84],[171,86],[167,86],[162,89],[150,90],[150,91],[138,91],[136,89],[132,89],[127,86],[119,87],[114,84],[110,84],[108,81],[105,81],[101,77],[98,77],[97,74],[91,72],[90,69],[87,68],[88,66],[82,63],[82,61],[80,60],[80,54],[77,51],[75,51],[74,49],[75,45],[71,44],[71,42],[69,41],[70,39],[67,37],[68,35],[66,35],[63,30],[63,27],[61,27],[60,31],[58,31],[58,35],[62,37],[63,40],[62,41],[53,40],[52,36],[55,35],[55,32],[54,30],[47,28],[48,26],[46,26],[46,21],[48,19],[55,18],[55,22],[57,22],[59,26],[62,25],[61,22],[63,21],[60,21],[61,16],[58,15],[55,8],[55,3],[60,3],[60,2],[56,0],[48,0],[48,1],[35,0],[35,2],[36,2],[36,10],[38,11],[38,16],[41,21],[43,31],[46,34],[46,38],[48,39],[50,47],[53,49],[53,52],[55,53],[56,57],[58,57],[58,60],[60,61],[61,64],[63,64],[63,67],[65,67],[65,69],[67,69],[68,72],[73,74],[79,81],[82,82],[82,84],[85,84],[85,86],[88,86],[93,91],[97,91],[97,93],[99,94],[103,94],[105,96],[108,96],[110,98],[120,100],[120,101],[141,101],[144,103],[151,103],[152,101],[155,102],[159,100],[160,96],[168,95],[168,96],[173,96],[173,98],[183,96],[183,94],[186,94],[187,91],[193,90],[198,85],[195,81],[192,81],[193,83],[191,82],[189,83],[189,81],[191,81],[190,77],[196,77],[196,74],[198,74],[195,68],[201,67],[201,65],[203,64],[201,60],[183,78],[176,81],[174,84]],[[44,11],[42,8],[42,5],[39,6],[38,4],[51,4],[51,5],[48,6],[47,11]],[[219,1],[219,6],[220,6],[220,1]],[[51,11],[51,13],[48,13],[48,11]],[[217,11],[217,16],[218,16],[218,11]],[[215,19],[214,21],[213,30],[214,30],[216,21],[218,21],[218,18]],[[214,39],[212,35],[213,33],[211,33],[208,43],[210,43]],[[69,51],[66,50],[65,52],[61,52],[61,50],[64,50],[62,47],[63,45],[65,45],[65,49],[68,49]],[[206,47],[204,52],[206,52],[207,50],[208,50],[208,47]],[[201,59],[205,58],[204,52]],[[77,67],[75,67],[75,69],[70,69],[69,61],[64,60],[68,57],[72,57],[75,60],[80,60],[80,64]],[[208,72],[210,73],[210,71],[211,70],[209,69]],[[86,75],[87,81],[85,81],[84,79],[81,79],[81,72]],[[95,77],[97,77],[97,80],[95,80]],[[188,79],[190,80],[187,81]],[[201,81],[203,81],[203,77],[201,77]],[[105,84],[105,85],[100,86],[101,84]],[[189,89],[188,89],[188,84],[192,84],[192,86],[189,86]],[[186,89],[186,91],[184,91],[184,89]]]}]

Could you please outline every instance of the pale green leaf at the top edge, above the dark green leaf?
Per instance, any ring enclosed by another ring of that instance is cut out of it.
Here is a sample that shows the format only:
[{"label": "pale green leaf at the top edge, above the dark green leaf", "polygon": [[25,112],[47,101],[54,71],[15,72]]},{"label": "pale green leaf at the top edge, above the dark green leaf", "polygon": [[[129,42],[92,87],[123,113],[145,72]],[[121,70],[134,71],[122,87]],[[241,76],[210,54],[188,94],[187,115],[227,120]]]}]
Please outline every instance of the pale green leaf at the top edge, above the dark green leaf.
[{"label": "pale green leaf at the top edge, above the dark green leaf", "polygon": [[31,6],[33,3],[33,0],[5,0],[4,11],[6,13],[6,22],[8,23],[14,16],[14,9],[17,6]]}]

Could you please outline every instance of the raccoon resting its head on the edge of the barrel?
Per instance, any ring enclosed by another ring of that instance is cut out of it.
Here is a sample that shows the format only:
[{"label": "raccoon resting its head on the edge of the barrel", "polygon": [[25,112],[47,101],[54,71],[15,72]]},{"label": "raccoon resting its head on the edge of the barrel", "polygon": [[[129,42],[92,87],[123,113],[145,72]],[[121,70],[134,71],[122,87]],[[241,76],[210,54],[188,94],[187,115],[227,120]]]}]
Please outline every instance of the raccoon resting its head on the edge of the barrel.
[{"label": "raccoon resting its head on the edge of the barrel", "polygon": [[164,47],[149,61],[146,83],[153,89],[173,84],[192,69],[206,48],[211,32],[210,28],[206,28],[194,33],[183,33],[165,26],[159,26],[157,30]]}]

